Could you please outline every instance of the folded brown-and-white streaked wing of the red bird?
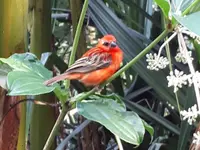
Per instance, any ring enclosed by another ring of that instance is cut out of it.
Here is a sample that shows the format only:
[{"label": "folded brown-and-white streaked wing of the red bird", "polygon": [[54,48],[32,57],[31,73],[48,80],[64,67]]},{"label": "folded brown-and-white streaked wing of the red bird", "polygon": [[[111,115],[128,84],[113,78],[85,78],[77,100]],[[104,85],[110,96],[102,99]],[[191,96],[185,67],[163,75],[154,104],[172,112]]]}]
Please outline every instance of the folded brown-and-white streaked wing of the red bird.
[{"label": "folded brown-and-white streaked wing of the red bird", "polygon": [[111,55],[106,52],[95,52],[78,59],[66,70],[67,73],[87,73],[108,67],[112,62]]}]

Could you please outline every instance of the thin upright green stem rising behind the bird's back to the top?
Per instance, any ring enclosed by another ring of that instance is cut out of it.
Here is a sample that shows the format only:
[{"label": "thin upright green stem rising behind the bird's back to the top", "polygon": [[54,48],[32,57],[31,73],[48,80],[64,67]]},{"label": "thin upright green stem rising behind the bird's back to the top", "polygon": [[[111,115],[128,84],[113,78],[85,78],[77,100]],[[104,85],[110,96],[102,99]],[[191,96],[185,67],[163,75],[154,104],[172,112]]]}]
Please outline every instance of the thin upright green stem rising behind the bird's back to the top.
[{"label": "thin upright green stem rising behind the bird's back to the top", "polygon": [[[86,11],[87,11],[87,8],[88,8],[88,3],[89,3],[89,0],[84,1],[83,8],[82,8],[81,15],[80,15],[80,19],[79,19],[79,22],[78,22],[78,26],[76,28],[76,34],[75,34],[74,42],[73,42],[73,45],[72,45],[73,49],[72,49],[72,52],[71,52],[71,55],[70,55],[70,58],[69,58],[68,66],[71,66],[74,63],[74,60],[75,60],[75,55],[76,55],[76,51],[77,51],[77,47],[78,47],[80,33],[81,33],[81,30],[82,30],[83,21],[85,19],[85,14],[86,14]],[[66,80],[66,86],[65,87],[69,88],[69,84],[70,84],[70,81]]]}]

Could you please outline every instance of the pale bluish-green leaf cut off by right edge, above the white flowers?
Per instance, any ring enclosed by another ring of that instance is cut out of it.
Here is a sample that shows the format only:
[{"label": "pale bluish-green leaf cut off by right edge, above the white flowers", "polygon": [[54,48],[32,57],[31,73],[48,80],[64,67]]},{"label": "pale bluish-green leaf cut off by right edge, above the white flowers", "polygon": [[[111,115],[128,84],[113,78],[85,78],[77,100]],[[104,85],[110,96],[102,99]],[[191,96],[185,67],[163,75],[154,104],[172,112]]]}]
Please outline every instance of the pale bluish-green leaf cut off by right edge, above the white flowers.
[{"label": "pale bluish-green leaf cut off by right edge, above the white flowers", "polygon": [[192,13],[187,16],[178,16],[176,14],[173,14],[173,16],[176,18],[176,20],[182,24],[184,27],[188,28],[193,33],[200,36],[200,30],[199,30],[199,24],[200,24],[200,11],[196,13]]}]

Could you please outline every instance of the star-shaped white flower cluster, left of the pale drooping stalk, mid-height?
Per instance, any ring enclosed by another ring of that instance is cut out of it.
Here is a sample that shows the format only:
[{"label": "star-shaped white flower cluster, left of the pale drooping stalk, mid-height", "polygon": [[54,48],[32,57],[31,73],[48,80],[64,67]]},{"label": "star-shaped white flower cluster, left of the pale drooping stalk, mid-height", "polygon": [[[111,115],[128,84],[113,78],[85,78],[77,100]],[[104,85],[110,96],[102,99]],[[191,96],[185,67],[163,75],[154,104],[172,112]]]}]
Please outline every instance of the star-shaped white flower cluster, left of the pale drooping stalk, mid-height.
[{"label": "star-shaped white flower cluster, left of the pale drooping stalk, mid-height", "polygon": [[183,85],[187,85],[188,79],[190,76],[184,74],[183,71],[178,71],[177,69],[170,72],[170,75],[167,76],[168,87],[174,86],[174,93],[178,91],[179,88],[182,88]]}]

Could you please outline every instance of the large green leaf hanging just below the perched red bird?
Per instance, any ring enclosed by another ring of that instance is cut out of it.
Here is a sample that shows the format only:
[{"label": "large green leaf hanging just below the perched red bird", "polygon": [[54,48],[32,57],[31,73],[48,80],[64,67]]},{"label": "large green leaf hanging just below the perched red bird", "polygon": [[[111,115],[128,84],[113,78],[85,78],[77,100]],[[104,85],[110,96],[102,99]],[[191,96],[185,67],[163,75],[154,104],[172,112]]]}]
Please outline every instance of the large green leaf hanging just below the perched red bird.
[{"label": "large green leaf hanging just below the perched red bird", "polygon": [[84,100],[77,103],[79,114],[101,123],[124,141],[139,145],[145,133],[143,122],[135,112],[120,111],[122,108],[110,99]]}]

